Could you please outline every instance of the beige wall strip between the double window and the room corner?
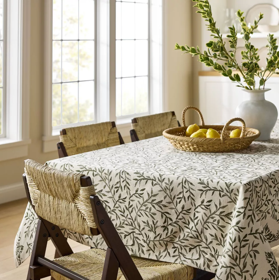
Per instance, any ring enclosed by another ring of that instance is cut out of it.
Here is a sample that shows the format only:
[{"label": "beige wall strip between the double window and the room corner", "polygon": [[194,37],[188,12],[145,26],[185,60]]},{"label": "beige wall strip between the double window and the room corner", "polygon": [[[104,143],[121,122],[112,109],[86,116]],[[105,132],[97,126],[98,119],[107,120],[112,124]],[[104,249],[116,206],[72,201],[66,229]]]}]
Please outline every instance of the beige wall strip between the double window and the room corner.
[{"label": "beige wall strip between the double window and the room corner", "polygon": [[[174,48],[176,43],[192,44],[191,11],[192,1],[164,1],[163,104],[164,111],[175,111],[179,121],[182,110],[192,104],[192,58],[189,55],[182,55],[181,51]],[[186,113],[186,122],[190,121],[190,114]]]}]

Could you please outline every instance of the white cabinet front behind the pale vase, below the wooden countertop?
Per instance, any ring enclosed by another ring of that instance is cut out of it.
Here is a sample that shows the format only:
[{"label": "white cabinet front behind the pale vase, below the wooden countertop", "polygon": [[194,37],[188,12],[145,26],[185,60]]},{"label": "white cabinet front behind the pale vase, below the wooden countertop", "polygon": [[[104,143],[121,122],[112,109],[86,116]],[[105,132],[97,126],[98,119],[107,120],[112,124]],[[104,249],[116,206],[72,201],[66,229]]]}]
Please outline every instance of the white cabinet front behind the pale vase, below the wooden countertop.
[{"label": "white cabinet front behind the pale vase, below the wooden countertop", "polygon": [[[279,77],[270,77],[265,88],[271,88],[265,93],[266,100],[274,103],[279,111]],[[205,124],[226,123],[237,117],[235,109],[244,100],[247,100],[246,93],[228,77],[199,76],[199,109]]]}]

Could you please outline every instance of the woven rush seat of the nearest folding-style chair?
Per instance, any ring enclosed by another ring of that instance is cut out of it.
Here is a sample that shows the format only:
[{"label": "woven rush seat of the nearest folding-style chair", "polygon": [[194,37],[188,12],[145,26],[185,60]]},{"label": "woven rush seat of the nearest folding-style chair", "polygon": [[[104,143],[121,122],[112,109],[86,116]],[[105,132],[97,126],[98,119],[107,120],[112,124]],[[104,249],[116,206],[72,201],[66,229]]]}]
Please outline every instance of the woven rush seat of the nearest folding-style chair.
[{"label": "woven rush seat of the nearest folding-style chair", "polygon": [[[54,259],[63,267],[86,277],[89,280],[101,280],[104,268],[106,251],[101,249],[90,249],[69,256]],[[139,257],[132,257],[143,280],[191,280],[193,269],[188,265],[154,261]],[[55,271],[51,275],[56,280],[68,280]],[[118,269],[117,280],[126,280],[122,271]]]}]

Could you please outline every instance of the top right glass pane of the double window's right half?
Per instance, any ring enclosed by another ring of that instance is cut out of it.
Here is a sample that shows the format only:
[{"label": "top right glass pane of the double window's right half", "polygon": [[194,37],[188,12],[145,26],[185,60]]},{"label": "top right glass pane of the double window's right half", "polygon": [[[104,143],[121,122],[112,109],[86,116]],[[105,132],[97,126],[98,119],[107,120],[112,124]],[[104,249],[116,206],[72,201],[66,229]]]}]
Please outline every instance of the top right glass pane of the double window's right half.
[{"label": "top right glass pane of the double window's right half", "polygon": [[135,4],[136,5],[136,39],[148,38],[148,5],[147,4]]}]

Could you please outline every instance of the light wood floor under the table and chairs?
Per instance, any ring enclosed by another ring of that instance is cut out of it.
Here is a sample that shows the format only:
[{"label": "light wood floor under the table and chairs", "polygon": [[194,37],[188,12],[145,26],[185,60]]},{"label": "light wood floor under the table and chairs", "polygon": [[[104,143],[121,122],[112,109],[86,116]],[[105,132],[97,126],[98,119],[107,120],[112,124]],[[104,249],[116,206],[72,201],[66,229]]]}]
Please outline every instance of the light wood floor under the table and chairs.
[{"label": "light wood floor under the table and chairs", "polygon": [[[26,280],[30,257],[18,268],[15,267],[13,246],[17,230],[22,220],[27,199],[21,199],[0,205],[0,280]],[[88,247],[73,240],[68,240],[73,252],[87,250]],[[279,262],[279,246],[273,252]],[[48,242],[46,257],[54,257],[55,248],[51,241]],[[50,277],[44,278],[49,280]]]}]

